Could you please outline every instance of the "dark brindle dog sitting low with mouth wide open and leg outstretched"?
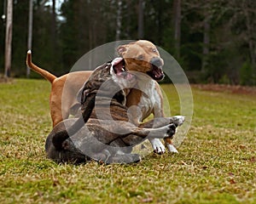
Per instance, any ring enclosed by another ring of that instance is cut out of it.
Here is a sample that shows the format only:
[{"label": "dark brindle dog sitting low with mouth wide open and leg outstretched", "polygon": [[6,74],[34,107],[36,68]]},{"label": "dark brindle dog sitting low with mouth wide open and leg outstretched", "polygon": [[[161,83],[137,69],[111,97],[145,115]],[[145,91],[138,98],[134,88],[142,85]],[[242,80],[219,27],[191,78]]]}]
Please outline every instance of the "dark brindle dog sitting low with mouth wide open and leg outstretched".
[{"label": "dark brindle dog sitting low with mouth wide open and leg outstretched", "polygon": [[129,122],[125,99],[136,83],[122,58],[96,68],[80,90],[82,116],[54,127],[45,144],[47,156],[56,162],[130,163],[140,161],[139,155],[131,154],[133,145],[172,138],[183,116],[155,118],[138,127]]}]

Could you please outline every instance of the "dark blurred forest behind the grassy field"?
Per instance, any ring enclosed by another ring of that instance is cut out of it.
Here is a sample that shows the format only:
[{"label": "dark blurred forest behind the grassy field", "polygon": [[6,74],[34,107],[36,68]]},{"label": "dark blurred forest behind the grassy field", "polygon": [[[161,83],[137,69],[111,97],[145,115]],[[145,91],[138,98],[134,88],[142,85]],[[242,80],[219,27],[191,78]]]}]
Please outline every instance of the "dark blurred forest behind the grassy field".
[{"label": "dark blurred forest behind the grassy field", "polygon": [[[14,0],[13,77],[26,77],[28,8],[29,0]],[[1,73],[4,26],[2,19]],[[33,1],[33,58],[57,76],[103,43],[147,39],[172,54],[190,82],[256,85],[255,33],[254,0]]]}]

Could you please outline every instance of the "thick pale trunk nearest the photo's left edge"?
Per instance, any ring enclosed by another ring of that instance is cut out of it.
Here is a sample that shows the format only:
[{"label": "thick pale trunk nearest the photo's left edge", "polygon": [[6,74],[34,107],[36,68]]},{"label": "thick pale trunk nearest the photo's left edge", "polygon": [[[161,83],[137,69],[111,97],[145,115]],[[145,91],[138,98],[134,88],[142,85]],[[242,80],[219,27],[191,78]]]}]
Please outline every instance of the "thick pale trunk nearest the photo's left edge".
[{"label": "thick pale trunk nearest the photo's left edge", "polygon": [[7,2],[7,19],[5,34],[5,67],[4,77],[10,77],[12,60],[12,35],[13,35],[13,0]]}]

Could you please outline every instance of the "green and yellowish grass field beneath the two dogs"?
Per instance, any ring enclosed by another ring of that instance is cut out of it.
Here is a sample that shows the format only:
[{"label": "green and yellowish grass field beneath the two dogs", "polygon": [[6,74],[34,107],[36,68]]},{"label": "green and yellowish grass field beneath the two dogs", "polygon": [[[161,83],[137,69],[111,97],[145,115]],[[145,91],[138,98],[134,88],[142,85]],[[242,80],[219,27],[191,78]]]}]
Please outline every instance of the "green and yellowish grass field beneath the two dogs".
[{"label": "green and yellowish grass field beneath the two dogs", "polygon": [[[163,85],[178,114],[177,94]],[[0,203],[255,203],[256,95],[193,88],[178,155],[130,165],[57,165],[44,153],[49,82],[0,83]]]}]

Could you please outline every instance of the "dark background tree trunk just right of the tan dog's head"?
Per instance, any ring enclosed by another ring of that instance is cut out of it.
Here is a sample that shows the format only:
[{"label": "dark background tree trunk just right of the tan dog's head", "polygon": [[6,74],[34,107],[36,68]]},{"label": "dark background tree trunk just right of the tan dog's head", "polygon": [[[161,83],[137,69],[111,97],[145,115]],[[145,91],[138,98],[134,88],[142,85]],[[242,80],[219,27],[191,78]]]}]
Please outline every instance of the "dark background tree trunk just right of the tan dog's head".
[{"label": "dark background tree trunk just right of the tan dog's head", "polygon": [[174,16],[174,42],[176,57],[180,57],[180,24],[181,24],[181,0],[173,1],[173,16]]}]

